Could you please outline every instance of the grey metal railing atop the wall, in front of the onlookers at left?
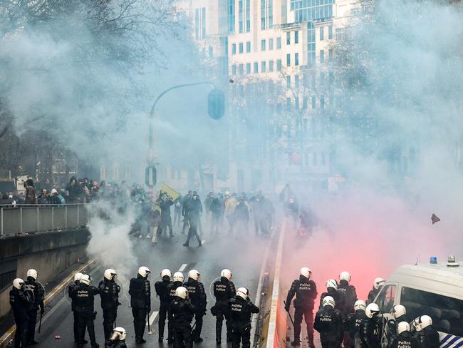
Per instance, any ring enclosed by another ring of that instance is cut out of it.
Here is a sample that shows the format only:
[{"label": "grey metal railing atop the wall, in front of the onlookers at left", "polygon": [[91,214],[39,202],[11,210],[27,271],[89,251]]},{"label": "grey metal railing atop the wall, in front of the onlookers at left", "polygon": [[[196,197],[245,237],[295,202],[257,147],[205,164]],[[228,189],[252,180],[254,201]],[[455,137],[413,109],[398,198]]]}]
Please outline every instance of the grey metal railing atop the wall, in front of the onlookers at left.
[{"label": "grey metal railing atop the wall, in front of the onlookers at left", "polygon": [[84,204],[0,205],[0,237],[64,230],[87,223],[88,211]]}]

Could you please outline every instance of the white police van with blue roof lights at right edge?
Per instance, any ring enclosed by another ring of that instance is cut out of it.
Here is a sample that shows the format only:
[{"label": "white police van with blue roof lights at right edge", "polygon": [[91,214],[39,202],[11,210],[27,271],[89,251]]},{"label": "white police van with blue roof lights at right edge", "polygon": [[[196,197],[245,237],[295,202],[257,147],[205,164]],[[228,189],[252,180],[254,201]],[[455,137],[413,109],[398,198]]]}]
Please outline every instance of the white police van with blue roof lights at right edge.
[{"label": "white police van with blue roof lights at right edge", "polygon": [[449,256],[447,262],[403,265],[387,279],[375,299],[387,319],[395,305],[407,309],[407,322],[421,315],[432,317],[441,348],[463,347],[463,261]]}]

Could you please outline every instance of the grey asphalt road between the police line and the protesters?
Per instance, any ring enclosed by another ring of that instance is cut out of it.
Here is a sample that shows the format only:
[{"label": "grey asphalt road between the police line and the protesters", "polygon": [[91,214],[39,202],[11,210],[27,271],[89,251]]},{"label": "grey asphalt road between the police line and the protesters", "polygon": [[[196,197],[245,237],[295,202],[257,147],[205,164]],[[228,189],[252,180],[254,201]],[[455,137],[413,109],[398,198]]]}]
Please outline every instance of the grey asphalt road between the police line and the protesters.
[{"label": "grey asphalt road between the police line and the protesters", "polygon": [[[254,231],[251,228],[248,237],[241,240],[236,240],[230,236],[228,232],[222,232],[216,237],[202,237],[205,240],[202,247],[197,247],[197,242],[190,242],[192,247],[184,247],[185,235],[180,234],[179,227],[175,228],[175,237],[161,237],[157,246],[152,246],[149,239],[136,239],[135,250],[137,252],[140,265],[146,265],[152,271],[150,275],[152,285],[152,329],[153,334],[148,335],[145,332],[146,344],[135,344],[133,335],[132,312],[129,307],[130,301],[127,295],[128,284],[120,284],[123,287],[120,302],[122,305],[118,309],[117,325],[124,327],[128,336],[126,343],[128,347],[168,347],[167,342],[158,343],[157,330],[157,310],[159,302],[155,295],[154,283],[158,280],[160,270],[169,268],[172,273],[177,270],[182,270],[187,277],[188,270],[196,269],[202,275],[202,282],[207,290],[207,308],[210,309],[214,305],[214,299],[209,295],[209,286],[214,280],[219,277],[220,271],[223,268],[229,268],[233,273],[233,281],[236,287],[248,287],[251,292],[251,299],[256,297],[256,289],[259,283],[259,273],[261,270],[261,262],[264,258],[266,246],[269,244],[269,239],[264,237],[254,236]],[[133,270],[135,276],[137,270]],[[93,285],[98,285],[103,279],[103,269],[95,265],[90,270],[94,282]],[[54,303],[53,303],[54,302]],[[66,297],[62,295],[51,303],[51,307],[46,310],[42,322],[41,333],[36,333],[36,340],[39,342],[36,347],[74,347],[73,342],[73,315],[71,305]],[[104,347],[103,337],[103,317],[100,308],[100,299],[95,299],[95,309],[97,310],[97,318],[95,319],[95,332],[97,342],[100,347]],[[224,325],[225,327],[225,325]],[[59,335],[61,338],[57,339]],[[167,326],[165,337],[167,337]],[[225,329],[222,333],[225,337]],[[88,334],[85,334],[88,339]],[[215,343],[215,318],[210,314],[209,310],[204,317],[202,329],[202,338],[204,342],[195,344],[197,347],[219,347]],[[229,344],[230,345],[230,344]],[[90,347],[90,344],[87,345]],[[172,346],[171,346],[172,347]],[[227,347],[227,342],[222,340],[222,347]]]}]

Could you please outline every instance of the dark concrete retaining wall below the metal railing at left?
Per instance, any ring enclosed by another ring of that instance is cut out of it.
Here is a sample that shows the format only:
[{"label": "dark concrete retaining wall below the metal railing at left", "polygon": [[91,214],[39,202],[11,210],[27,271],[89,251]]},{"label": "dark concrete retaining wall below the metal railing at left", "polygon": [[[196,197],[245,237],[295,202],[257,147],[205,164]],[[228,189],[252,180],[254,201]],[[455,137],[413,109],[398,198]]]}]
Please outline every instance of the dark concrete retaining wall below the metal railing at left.
[{"label": "dark concrete retaining wall below the metal railing at left", "polygon": [[[38,271],[38,281],[46,285],[77,259],[85,257],[90,232],[87,229],[48,232],[0,240],[0,268],[16,267],[16,277],[26,280],[30,268]],[[9,291],[0,289],[0,319],[9,314]]]}]

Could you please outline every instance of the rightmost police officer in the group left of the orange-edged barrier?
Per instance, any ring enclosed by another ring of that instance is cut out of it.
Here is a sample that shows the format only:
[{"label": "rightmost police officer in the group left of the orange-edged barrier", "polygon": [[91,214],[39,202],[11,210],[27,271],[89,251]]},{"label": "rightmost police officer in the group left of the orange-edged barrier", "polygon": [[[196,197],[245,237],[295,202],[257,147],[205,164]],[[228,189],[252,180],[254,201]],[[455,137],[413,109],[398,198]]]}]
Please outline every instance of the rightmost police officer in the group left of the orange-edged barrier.
[{"label": "rightmost police officer in the group left of the orange-edged barrier", "polygon": [[239,348],[240,342],[243,348],[251,347],[251,313],[259,313],[259,307],[249,300],[246,287],[236,290],[236,296],[229,300],[229,307],[233,330],[231,347]]}]

